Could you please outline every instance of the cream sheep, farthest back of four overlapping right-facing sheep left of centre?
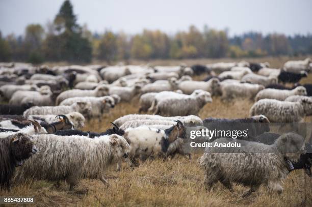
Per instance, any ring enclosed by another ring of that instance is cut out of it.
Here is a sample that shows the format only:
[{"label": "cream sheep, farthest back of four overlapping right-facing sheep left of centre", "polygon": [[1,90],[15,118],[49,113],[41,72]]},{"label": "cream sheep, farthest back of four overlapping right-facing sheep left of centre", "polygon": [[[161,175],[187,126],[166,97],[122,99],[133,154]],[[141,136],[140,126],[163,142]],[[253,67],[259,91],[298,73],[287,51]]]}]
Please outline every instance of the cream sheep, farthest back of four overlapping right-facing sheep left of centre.
[{"label": "cream sheep, farthest back of four overlapping right-facing sheep left of centre", "polygon": [[62,92],[56,99],[56,104],[59,105],[62,101],[71,97],[100,97],[107,95],[109,95],[109,87],[107,85],[98,85],[94,90],[73,89]]}]

